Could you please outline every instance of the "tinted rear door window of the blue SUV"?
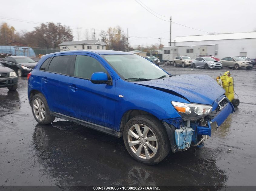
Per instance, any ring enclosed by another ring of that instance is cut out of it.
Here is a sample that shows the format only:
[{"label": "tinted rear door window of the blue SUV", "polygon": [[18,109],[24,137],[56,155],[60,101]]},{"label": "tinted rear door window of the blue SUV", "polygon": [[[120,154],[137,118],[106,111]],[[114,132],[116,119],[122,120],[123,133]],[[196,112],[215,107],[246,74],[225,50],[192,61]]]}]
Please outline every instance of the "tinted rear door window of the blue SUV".
[{"label": "tinted rear door window of the blue SUV", "polygon": [[70,55],[55,56],[49,65],[48,72],[67,74],[67,68],[70,62]]}]

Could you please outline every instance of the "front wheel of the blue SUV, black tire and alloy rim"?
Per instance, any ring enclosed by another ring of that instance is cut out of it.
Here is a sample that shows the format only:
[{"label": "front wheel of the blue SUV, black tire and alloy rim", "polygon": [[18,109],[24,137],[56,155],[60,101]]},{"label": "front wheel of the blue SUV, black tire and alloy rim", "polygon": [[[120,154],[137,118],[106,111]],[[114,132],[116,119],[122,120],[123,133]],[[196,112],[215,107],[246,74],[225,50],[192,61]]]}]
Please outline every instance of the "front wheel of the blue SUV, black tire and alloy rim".
[{"label": "front wheel of the blue SUV, black tire and alloy rim", "polygon": [[149,115],[130,119],[125,125],[123,136],[128,153],[144,164],[157,164],[170,151],[170,142],[163,124]]}]

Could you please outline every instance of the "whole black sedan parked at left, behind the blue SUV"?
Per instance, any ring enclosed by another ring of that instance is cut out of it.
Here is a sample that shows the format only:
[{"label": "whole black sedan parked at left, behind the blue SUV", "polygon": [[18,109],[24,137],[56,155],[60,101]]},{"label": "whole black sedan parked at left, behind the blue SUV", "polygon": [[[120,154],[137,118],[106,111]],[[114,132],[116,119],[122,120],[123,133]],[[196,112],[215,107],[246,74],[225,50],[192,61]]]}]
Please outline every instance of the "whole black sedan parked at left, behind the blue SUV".
[{"label": "whole black sedan parked at left, behind the blue SUV", "polygon": [[37,62],[27,56],[9,56],[1,61],[8,68],[12,68],[18,76],[27,75],[31,72]]}]

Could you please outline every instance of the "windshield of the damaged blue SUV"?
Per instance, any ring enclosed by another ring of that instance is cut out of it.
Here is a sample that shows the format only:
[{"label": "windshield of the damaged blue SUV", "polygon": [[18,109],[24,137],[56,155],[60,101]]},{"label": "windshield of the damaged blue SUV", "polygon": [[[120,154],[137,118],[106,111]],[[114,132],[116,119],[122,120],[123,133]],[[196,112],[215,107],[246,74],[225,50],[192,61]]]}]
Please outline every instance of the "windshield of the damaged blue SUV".
[{"label": "windshield of the damaged blue SUV", "polygon": [[168,76],[157,65],[138,55],[104,55],[102,57],[121,78],[128,81],[153,80]]}]

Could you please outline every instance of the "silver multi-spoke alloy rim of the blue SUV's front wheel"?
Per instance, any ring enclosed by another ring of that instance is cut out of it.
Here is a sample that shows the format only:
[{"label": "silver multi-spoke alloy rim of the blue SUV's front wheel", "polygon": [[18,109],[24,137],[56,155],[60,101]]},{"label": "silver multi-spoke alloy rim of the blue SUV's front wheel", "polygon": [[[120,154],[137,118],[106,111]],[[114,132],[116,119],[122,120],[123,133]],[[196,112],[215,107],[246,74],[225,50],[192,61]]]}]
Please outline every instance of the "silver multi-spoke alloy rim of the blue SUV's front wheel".
[{"label": "silver multi-spoke alloy rim of the blue SUV's front wheel", "polygon": [[140,158],[150,159],[158,150],[158,142],[152,130],[143,124],[135,124],[128,131],[128,144]]}]

